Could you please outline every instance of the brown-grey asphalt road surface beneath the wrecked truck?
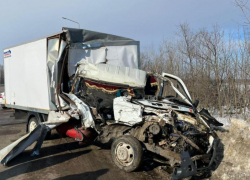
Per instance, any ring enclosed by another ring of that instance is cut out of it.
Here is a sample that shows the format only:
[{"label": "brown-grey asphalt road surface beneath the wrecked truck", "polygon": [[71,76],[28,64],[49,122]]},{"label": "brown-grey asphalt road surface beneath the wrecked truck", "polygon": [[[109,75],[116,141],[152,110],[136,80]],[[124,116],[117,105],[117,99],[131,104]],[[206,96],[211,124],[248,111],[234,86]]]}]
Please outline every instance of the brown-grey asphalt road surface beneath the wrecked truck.
[{"label": "brown-grey asphalt road surface beneath the wrecked truck", "polygon": [[[0,109],[0,149],[22,137],[25,126],[25,120],[14,119],[13,111]],[[137,172],[125,173],[113,164],[109,149],[94,144],[80,146],[55,132],[43,143],[40,156],[30,156],[33,146],[11,160],[7,167],[0,165],[0,180],[171,179],[159,164],[146,160]]]}]

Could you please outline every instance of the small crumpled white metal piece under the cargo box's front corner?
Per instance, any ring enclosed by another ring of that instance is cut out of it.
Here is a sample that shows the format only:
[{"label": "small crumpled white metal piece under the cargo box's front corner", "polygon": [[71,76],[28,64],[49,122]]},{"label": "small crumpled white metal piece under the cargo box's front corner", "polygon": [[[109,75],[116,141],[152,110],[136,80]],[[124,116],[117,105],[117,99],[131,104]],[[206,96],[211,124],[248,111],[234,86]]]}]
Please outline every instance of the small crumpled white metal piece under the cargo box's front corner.
[{"label": "small crumpled white metal piece under the cargo box's front corner", "polygon": [[70,116],[65,112],[50,111],[48,121],[44,122],[43,124],[65,123],[68,122],[69,119]]}]

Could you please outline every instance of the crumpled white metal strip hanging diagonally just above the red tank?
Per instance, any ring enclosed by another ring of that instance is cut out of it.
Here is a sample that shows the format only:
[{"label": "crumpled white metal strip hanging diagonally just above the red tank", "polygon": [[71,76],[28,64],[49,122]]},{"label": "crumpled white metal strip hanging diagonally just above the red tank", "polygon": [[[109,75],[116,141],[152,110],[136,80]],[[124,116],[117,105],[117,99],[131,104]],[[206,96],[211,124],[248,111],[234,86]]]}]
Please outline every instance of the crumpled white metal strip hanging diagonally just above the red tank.
[{"label": "crumpled white metal strip hanging diagonally just above the red tank", "polygon": [[72,101],[75,102],[77,108],[79,109],[81,115],[82,115],[82,123],[86,128],[95,127],[95,122],[92,117],[91,111],[89,109],[89,106],[85,104],[82,100],[80,100],[76,95],[74,94],[66,94]]}]

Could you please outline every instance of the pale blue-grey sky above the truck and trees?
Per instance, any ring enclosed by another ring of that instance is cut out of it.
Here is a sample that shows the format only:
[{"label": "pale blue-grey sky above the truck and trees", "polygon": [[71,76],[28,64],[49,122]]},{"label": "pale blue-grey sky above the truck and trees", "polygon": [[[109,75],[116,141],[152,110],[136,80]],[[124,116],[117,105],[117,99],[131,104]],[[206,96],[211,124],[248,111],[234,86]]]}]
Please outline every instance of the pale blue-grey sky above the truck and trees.
[{"label": "pale blue-grey sky above the truck and trees", "polygon": [[[141,50],[171,39],[181,23],[224,30],[244,22],[234,0],[11,0],[0,10],[0,49],[60,32],[62,27],[105,32],[140,41]],[[0,56],[3,64],[3,54]]]}]

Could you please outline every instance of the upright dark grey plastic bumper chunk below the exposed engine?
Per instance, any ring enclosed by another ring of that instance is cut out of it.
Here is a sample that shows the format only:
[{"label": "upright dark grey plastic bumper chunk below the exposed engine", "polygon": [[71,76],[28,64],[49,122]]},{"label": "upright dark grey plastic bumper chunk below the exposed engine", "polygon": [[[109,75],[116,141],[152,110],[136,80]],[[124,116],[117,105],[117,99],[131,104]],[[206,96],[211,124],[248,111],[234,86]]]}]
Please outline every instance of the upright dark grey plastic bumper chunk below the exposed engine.
[{"label": "upright dark grey plastic bumper chunk below the exposed engine", "polygon": [[195,174],[197,174],[197,168],[191,160],[189,153],[183,151],[181,153],[181,167],[174,169],[174,172],[172,174],[173,180],[193,176]]}]

